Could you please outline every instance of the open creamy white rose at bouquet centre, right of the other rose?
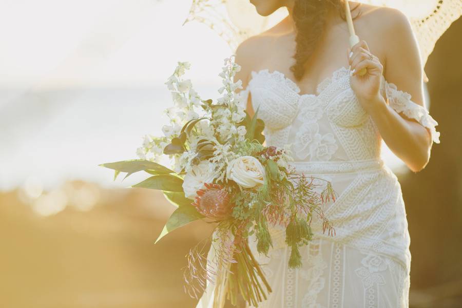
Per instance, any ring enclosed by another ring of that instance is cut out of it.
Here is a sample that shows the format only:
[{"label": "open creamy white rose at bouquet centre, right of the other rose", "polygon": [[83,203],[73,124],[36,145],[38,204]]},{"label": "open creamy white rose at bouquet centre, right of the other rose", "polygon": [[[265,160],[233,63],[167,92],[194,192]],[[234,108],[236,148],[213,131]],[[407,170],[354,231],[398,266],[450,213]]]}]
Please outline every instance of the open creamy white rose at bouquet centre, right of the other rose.
[{"label": "open creamy white rose at bouquet centre, right of the other rose", "polygon": [[244,188],[252,188],[264,183],[265,169],[255,157],[241,156],[228,164],[226,177]]}]

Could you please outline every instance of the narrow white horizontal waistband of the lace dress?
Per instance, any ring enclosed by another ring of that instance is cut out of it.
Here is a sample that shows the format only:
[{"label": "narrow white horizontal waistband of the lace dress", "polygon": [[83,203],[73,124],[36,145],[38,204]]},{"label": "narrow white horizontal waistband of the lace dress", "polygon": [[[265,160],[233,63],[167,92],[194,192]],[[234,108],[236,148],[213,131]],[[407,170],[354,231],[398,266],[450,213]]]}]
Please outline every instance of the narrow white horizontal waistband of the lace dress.
[{"label": "narrow white horizontal waistband of the lace dress", "polygon": [[381,158],[373,158],[357,161],[289,162],[289,165],[304,174],[338,174],[380,170],[384,163]]}]

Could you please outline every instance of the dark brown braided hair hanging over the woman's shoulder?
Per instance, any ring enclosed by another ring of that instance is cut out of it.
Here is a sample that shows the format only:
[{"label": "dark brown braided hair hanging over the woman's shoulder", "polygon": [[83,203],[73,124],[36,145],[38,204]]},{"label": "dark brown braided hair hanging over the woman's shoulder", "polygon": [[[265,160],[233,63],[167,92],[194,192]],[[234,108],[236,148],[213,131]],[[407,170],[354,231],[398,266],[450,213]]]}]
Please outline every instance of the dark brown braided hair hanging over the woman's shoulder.
[{"label": "dark brown braided hair hanging over the woman's shoulder", "polygon": [[[293,56],[295,64],[291,66],[291,71],[297,81],[302,79],[305,73],[304,64],[310,59],[325,31],[329,10],[337,10],[341,18],[345,20],[344,3],[345,0],[295,0],[293,18],[297,32],[295,36],[297,46]],[[359,5],[352,11],[356,10]],[[354,18],[358,16],[359,14]]]}]

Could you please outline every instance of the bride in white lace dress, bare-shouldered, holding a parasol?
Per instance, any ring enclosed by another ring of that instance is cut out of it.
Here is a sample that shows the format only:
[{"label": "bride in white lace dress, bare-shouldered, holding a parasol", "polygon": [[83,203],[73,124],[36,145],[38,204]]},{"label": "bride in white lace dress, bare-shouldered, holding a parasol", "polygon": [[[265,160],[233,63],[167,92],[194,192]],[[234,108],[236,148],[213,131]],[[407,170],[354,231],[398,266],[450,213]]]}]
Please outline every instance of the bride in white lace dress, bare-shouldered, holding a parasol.
[{"label": "bride in white lace dress, bare-shouldered, holding a parasol", "polygon": [[[351,2],[363,41],[349,48],[343,0],[251,0],[267,16],[289,15],[236,51],[247,112],[266,127],[266,145],[290,144],[298,172],[332,182],[324,205],[334,237],[313,218],[303,266],[287,267],[284,229],[259,255],[273,292],[262,307],[408,307],[411,254],[396,176],[380,158],[381,140],[414,172],[429,161],[439,132],[424,107],[423,70],[411,26],[398,10]],[[365,75],[359,72],[366,69]],[[210,253],[213,249],[210,249]],[[213,284],[197,307],[211,307]]]}]

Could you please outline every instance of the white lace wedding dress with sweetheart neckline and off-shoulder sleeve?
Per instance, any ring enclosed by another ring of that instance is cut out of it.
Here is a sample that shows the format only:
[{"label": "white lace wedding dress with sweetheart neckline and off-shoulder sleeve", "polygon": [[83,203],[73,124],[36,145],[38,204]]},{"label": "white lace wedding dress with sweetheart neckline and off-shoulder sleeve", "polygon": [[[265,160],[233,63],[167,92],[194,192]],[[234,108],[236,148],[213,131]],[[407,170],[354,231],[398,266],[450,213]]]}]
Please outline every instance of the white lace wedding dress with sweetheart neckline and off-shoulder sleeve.
[{"label": "white lace wedding dress with sweetheart neckline and off-shoulder sleeve", "polygon": [[[394,110],[428,127],[439,142],[437,122],[426,108],[384,78],[381,90]],[[323,207],[336,235],[323,234],[314,217],[313,241],[300,249],[302,268],[287,266],[290,248],[282,227],[271,228],[268,257],[249,238],[273,289],[261,307],[408,307],[411,254],[401,187],[380,158],[379,131],[350,87],[350,70],[334,71],[318,85],[318,94],[301,94],[281,72],[253,71],[241,91],[245,97],[248,92],[254,110],[260,106],[266,145],[291,144],[296,170],[331,181],[338,193]],[[212,307],[214,287],[208,283],[198,308]]]}]

